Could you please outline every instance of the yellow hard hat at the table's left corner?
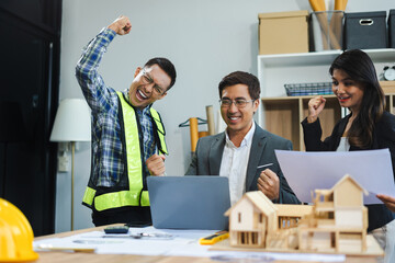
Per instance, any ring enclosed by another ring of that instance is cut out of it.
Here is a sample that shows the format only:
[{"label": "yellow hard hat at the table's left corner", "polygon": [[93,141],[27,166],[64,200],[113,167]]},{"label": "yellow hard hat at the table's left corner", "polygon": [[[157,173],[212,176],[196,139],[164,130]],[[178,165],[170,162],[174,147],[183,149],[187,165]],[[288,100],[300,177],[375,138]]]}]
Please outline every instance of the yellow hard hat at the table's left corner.
[{"label": "yellow hard hat at the table's left corner", "polygon": [[35,261],[33,230],[16,206],[0,198],[0,262]]}]

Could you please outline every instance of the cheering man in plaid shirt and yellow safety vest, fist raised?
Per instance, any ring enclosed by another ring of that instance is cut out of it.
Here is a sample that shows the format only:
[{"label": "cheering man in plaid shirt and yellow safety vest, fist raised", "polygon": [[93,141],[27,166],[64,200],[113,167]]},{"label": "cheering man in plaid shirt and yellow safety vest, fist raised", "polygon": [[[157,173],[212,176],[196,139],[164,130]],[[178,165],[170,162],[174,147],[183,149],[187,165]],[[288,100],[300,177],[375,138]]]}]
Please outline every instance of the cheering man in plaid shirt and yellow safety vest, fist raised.
[{"label": "cheering man in plaid shirt and yellow safety vest, fist raised", "polygon": [[151,105],[174,84],[174,66],[166,58],[150,59],[123,92],[105,85],[98,72],[110,43],[131,28],[121,15],[88,44],[76,67],[92,113],[92,167],[82,204],[92,209],[95,226],[150,224],[146,176],[165,173],[165,127]]}]

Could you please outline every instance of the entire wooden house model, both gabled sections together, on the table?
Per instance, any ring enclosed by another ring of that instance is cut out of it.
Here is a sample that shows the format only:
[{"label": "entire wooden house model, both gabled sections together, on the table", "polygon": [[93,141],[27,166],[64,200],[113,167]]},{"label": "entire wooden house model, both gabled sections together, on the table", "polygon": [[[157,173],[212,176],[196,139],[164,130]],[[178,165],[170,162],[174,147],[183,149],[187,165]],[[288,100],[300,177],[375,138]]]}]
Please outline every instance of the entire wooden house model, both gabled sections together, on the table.
[{"label": "entire wooden house model, both gabled sections together, on the table", "polygon": [[232,247],[363,252],[366,191],[345,175],[330,190],[316,190],[313,205],[274,205],[260,191],[246,193],[225,215]]}]

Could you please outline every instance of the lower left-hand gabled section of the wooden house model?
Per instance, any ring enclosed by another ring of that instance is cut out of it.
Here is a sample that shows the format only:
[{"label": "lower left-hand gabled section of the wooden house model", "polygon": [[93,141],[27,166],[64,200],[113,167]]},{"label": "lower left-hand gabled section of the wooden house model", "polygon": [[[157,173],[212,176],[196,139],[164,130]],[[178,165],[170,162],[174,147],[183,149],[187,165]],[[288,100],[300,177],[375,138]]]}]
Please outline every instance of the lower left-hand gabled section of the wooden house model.
[{"label": "lower left-hand gabled section of the wooden house model", "polygon": [[[275,205],[262,192],[246,193],[225,215],[229,217],[233,247],[293,248],[297,220],[311,214],[312,206]],[[282,230],[282,231],[280,231]]]}]

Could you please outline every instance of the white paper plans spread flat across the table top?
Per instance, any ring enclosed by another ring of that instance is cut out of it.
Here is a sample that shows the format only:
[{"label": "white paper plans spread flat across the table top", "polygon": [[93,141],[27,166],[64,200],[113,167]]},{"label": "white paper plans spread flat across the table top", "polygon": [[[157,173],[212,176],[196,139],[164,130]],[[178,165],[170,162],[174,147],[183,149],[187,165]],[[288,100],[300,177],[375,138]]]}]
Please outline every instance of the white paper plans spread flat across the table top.
[{"label": "white paper plans spread flat across the table top", "polygon": [[[270,259],[294,260],[313,262],[343,262],[343,254],[305,254],[305,253],[268,253],[268,252],[236,252],[213,251],[211,245],[201,245],[199,239],[213,235],[213,230],[170,230],[147,228],[131,228],[128,233],[168,233],[172,239],[132,239],[125,235],[120,238],[104,238],[103,231],[91,231],[66,238],[54,238],[34,241],[35,251],[42,251],[41,244],[53,248],[94,248],[98,254],[140,254],[140,255],[166,255],[166,256],[203,256],[212,259]],[[264,262],[264,261],[260,261]],[[268,261],[269,262],[269,261]]]}]

